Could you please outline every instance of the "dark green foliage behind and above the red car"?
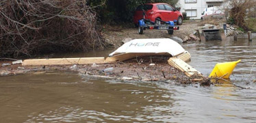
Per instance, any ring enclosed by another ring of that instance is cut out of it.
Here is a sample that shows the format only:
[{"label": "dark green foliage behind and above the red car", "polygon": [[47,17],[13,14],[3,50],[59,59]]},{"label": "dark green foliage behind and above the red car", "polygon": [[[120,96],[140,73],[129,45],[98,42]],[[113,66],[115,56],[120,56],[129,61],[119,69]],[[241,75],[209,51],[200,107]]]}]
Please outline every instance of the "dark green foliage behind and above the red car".
[{"label": "dark green foliage behind and above the red car", "polygon": [[178,0],[88,0],[88,5],[95,6],[102,23],[131,22],[133,12],[144,3],[169,3],[174,6]]}]

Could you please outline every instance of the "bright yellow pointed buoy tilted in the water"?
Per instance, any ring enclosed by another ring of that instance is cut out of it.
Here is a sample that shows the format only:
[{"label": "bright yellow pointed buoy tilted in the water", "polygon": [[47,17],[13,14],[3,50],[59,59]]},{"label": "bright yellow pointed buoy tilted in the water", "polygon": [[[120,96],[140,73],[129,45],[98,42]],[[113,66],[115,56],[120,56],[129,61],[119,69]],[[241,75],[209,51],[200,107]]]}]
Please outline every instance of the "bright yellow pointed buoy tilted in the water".
[{"label": "bright yellow pointed buoy tilted in the water", "polygon": [[211,74],[209,74],[209,77],[210,78],[222,77],[224,79],[229,78],[236,64],[238,64],[240,61],[241,60],[216,64],[216,66],[214,67],[214,70],[212,70]]}]

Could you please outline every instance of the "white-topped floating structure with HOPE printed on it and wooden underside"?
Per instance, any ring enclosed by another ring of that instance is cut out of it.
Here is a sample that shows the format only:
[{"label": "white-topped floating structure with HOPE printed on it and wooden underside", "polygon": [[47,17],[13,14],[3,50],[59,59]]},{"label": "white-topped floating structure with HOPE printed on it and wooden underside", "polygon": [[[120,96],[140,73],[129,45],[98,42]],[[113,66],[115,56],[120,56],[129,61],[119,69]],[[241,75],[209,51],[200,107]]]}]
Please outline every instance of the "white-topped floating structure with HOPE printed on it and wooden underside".
[{"label": "white-topped floating structure with HOPE printed on it and wooden underside", "polygon": [[106,62],[124,61],[134,57],[149,55],[166,55],[177,57],[183,61],[190,61],[190,53],[170,38],[135,39],[123,44],[116,51],[110,53]]}]

